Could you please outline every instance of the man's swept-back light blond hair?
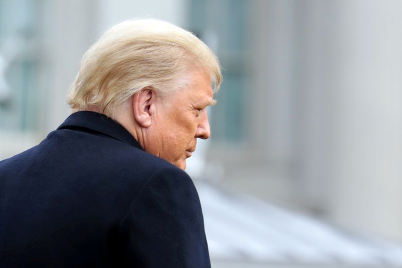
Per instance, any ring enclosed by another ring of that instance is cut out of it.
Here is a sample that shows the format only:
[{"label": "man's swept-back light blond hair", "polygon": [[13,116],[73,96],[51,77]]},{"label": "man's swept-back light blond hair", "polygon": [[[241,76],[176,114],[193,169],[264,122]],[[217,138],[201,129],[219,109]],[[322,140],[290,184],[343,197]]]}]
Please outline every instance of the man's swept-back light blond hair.
[{"label": "man's swept-back light blond hair", "polygon": [[144,87],[162,96],[179,90],[194,65],[211,73],[216,92],[222,81],[219,61],[192,33],[160,20],[124,21],[84,53],[67,103],[75,111],[94,106],[114,117]]}]

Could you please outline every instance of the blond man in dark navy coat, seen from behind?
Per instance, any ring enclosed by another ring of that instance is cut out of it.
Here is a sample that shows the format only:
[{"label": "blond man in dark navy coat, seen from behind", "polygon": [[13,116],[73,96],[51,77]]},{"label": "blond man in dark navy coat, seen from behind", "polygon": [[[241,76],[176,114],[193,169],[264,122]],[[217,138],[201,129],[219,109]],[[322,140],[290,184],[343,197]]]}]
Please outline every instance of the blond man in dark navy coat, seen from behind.
[{"label": "blond man in dark navy coat, seen from behind", "polygon": [[221,79],[214,53],[174,25],[107,31],[82,58],[73,113],[0,162],[0,266],[210,267],[183,170],[210,136]]}]

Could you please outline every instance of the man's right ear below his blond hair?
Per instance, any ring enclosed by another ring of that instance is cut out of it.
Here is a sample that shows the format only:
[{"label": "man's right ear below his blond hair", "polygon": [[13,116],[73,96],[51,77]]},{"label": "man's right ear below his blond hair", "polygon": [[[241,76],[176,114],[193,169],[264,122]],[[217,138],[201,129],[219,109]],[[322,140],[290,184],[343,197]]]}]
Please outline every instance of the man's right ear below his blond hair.
[{"label": "man's right ear below his blond hair", "polygon": [[137,123],[148,128],[152,123],[155,110],[156,93],[149,87],[144,87],[133,96],[133,114]]}]

